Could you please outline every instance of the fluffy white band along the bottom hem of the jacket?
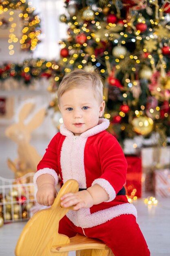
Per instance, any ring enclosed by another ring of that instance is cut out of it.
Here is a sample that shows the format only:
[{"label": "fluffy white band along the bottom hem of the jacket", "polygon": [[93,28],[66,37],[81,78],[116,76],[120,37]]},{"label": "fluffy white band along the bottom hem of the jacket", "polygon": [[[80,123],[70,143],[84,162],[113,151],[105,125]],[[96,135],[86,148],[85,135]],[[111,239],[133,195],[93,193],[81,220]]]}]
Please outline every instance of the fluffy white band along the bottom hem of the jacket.
[{"label": "fluffy white band along the bottom hem of the jacket", "polygon": [[119,204],[108,209],[90,213],[90,209],[79,209],[78,211],[68,211],[66,216],[77,227],[89,228],[101,225],[108,220],[112,220],[122,214],[132,214],[137,218],[137,210],[133,204]]}]

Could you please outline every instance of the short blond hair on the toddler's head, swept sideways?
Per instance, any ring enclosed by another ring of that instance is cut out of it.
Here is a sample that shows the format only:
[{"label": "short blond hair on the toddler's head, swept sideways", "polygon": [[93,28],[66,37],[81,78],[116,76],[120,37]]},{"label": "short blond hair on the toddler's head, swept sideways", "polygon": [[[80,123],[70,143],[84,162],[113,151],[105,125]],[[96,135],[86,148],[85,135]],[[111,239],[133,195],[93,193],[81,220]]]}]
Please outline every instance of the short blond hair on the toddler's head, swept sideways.
[{"label": "short blond hair on the toddler's head, swept sideways", "polygon": [[85,71],[82,69],[75,69],[62,79],[57,95],[58,100],[60,101],[60,97],[73,88],[84,87],[86,84],[89,85],[91,82],[91,86],[94,92],[94,97],[102,103],[103,101],[103,83],[102,79],[97,71]]}]

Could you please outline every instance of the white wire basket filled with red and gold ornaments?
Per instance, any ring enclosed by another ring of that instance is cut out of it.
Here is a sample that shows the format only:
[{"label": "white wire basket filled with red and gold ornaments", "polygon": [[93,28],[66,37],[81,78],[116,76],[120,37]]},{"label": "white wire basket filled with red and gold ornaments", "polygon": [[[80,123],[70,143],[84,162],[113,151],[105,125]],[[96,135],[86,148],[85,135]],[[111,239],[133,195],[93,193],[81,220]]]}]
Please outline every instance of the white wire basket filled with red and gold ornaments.
[{"label": "white wire basket filled with red and gold ornaments", "polygon": [[34,174],[27,173],[11,180],[0,177],[0,215],[4,223],[30,218],[30,210],[35,204]]}]

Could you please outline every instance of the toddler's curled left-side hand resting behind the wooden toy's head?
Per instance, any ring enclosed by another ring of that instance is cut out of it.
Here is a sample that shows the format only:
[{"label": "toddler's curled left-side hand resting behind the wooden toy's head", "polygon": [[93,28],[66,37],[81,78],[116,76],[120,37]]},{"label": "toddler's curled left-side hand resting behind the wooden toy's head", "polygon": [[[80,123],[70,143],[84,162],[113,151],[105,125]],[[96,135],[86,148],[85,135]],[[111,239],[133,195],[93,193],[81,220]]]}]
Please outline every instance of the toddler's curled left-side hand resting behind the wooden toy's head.
[{"label": "toddler's curled left-side hand resting behind the wooden toy's head", "polygon": [[51,183],[44,183],[38,187],[36,194],[37,202],[46,206],[53,204],[54,199],[57,196],[57,190]]}]

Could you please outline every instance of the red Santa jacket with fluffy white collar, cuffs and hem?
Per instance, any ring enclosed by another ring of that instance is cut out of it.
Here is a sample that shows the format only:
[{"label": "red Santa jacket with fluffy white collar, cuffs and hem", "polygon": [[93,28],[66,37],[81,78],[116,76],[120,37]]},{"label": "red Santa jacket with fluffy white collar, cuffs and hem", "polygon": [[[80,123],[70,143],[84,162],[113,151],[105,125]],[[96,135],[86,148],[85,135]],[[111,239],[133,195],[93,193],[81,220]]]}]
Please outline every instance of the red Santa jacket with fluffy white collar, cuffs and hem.
[{"label": "red Santa jacket with fluffy white collar, cuffs and hem", "polygon": [[80,189],[99,184],[106,190],[109,195],[107,202],[67,213],[77,227],[100,225],[121,214],[137,216],[126,195],[117,195],[126,182],[127,163],[119,143],[105,130],[108,125],[107,119],[99,119],[97,126],[80,136],[74,136],[62,125],[46,149],[34,177],[36,180],[49,173],[57,183],[60,174],[63,183],[68,179],[77,180]]}]

